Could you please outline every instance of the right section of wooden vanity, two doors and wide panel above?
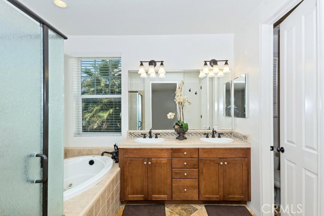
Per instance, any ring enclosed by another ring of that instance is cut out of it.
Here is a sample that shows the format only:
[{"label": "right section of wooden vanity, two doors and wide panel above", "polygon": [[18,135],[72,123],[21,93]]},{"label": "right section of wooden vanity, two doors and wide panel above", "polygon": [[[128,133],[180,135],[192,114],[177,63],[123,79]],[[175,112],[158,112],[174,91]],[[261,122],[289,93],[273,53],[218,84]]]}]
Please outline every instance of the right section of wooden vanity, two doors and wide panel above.
[{"label": "right section of wooden vanity, two doors and wide panel above", "polygon": [[249,164],[247,148],[199,149],[199,199],[250,200]]}]

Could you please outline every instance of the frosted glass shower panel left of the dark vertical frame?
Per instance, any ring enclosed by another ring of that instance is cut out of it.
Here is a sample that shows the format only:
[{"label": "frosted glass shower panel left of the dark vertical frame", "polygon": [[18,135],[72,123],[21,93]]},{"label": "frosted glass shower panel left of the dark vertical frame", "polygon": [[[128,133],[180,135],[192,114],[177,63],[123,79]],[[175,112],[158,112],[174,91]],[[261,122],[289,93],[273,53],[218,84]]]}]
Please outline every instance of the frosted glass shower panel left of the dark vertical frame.
[{"label": "frosted glass shower panel left of the dark vertical frame", "polygon": [[42,215],[42,28],[0,1],[0,214]]}]

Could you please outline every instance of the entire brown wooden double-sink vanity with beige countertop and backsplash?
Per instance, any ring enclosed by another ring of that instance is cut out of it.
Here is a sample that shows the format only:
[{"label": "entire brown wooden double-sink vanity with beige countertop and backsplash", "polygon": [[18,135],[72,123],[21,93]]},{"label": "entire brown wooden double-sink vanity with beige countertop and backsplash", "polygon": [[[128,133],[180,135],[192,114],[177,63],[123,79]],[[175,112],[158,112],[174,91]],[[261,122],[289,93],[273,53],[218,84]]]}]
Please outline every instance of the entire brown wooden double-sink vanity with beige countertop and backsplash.
[{"label": "entire brown wooden double-sink vanity with beige countertop and backsplash", "polygon": [[157,139],[129,132],[119,143],[120,200],[251,200],[249,136],[228,130],[224,138],[201,139],[203,133],[179,141],[167,131]]}]

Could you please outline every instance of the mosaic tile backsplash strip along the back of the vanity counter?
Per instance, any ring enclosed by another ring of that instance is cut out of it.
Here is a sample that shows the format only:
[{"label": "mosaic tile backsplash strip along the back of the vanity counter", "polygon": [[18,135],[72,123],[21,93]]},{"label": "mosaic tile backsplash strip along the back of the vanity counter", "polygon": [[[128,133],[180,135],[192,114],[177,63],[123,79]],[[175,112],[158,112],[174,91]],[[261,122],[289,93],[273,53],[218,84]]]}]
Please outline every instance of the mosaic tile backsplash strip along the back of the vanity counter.
[{"label": "mosaic tile backsplash strip along the back of the vanity counter", "polygon": [[[222,137],[227,137],[227,138],[237,138],[243,142],[246,143],[251,143],[251,137],[249,134],[245,134],[245,133],[241,133],[239,131],[236,130],[230,130],[230,129],[217,129],[216,130],[217,134],[215,135],[216,137],[218,136],[218,133],[222,133]],[[152,136],[155,133],[159,133],[160,135],[158,137],[162,137],[162,138],[175,138],[177,136],[176,132],[174,130],[158,130],[158,131],[154,131],[152,130]],[[206,135],[204,135],[205,133],[209,133],[210,137],[212,134],[212,130],[211,129],[204,129],[204,130],[188,130],[186,132],[186,137],[187,138],[193,138],[193,137],[206,137]],[[148,131],[128,131],[127,133],[127,137],[128,138],[139,138],[139,137],[143,137],[143,135],[141,134],[147,134],[148,135]]]}]

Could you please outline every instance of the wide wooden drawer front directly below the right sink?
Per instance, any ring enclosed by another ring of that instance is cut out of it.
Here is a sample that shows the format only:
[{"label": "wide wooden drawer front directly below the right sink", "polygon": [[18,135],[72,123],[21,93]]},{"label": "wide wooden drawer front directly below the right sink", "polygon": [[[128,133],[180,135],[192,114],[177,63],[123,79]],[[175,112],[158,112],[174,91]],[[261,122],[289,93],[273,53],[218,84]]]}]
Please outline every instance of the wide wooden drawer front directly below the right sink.
[{"label": "wide wooden drawer front directly below the right sink", "polygon": [[201,148],[199,158],[247,158],[247,148]]}]

